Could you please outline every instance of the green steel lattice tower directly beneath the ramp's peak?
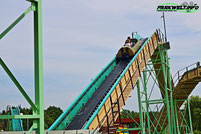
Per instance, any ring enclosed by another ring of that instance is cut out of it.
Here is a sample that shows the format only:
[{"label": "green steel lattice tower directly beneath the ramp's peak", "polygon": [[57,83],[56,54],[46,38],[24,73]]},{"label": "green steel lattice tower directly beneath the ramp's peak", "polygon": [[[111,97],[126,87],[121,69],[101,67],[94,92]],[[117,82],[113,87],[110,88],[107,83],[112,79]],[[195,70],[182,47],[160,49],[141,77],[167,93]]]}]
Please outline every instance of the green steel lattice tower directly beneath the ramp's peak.
[{"label": "green steel lattice tower directly beneath the ramp's peak", "polygon": [[[176,127],[176,119],[177,119],[177,113],[175,114],[175,108],[174,108],[174,102],[172,97],[172,83],[171,83],[171,74],[170,74],[170,66],[169,66],[169,58],[167,55],[167,50],[163,49],[162,45],[158,46],[158,52],[156,52],[157,56],[160,60],[152,59],[145,67],[140,80],[137,82],[137,94],[138,94],[138,103],[141,100],[141,103],[139,103],[139,118],[140,118],[140,125],[139,128],[128,128],[128,129],[118,129],[118,131],[132,131],[132,130],[140,130],[141,133],[148,133],[148,134],[158,134],[158,133],[169,133],[169,134],[177,134],[177,127]],[[161,64],[161,67],[159,71],[162,71],[163,79],[164,79],[164,85],[163,85],[163,91],[164,91],[164,98],[159,99],[152,99],[152,92],[153,90],[157,90],[155,86],[157,86],[158,90],[161,90],[159,88],[159,80],[158,75],[154,74],[155,69],[153,67],[153,64],[155,61],[159,61]],[[147,75],[149,74],[149,75]],[[150,84],[148,84],[150,79],[153,79],[153,86],[150,88]],[[143,89],[140,89],[140,83],[142,83]],[[142,94],[142,95],[141,95]],[[144,101],[143,101],[144,100]],[[159,114],[159,112],[155,112],[154,109],[151,109],[152,105],[162,105],[163,108],[162,112],[165,110],[167,111],[167,115],[165,117],[165,120],[161,122],[162,117]],[[175,105],[176,106],[176,105]],[[154,113],[155,112],[155,113]],[[145,118],[143,119],[143,114],[145,114]],[[168,121],[167,126],[165,126],[165,121]],[[157,128],[160,127],[160,130],[158,131]],[[145,131],[143,131],[145,129]]]}]

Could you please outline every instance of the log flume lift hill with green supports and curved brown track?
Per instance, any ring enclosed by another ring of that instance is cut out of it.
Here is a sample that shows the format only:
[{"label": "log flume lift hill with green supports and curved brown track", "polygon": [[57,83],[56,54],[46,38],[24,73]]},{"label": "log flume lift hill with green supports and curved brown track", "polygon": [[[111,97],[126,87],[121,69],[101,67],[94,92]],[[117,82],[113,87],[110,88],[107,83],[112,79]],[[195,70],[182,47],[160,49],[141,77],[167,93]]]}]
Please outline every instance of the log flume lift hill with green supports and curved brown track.
[{"label": "log flume lift hill with green supports and curved brown track", "polygon": [[[190,124],[187,123],[184,113],[180,112],[179,108],[185,101],[189,104],[188,96],[201,80],[199,62],[186,67],[183,74],[183,70],[178,71],[174,82],[167,53],[170,48],[169,42],[164,41],[164,35],[160,30],[156,30],[145,39],[139,34],[133,38],[141,42],[135,53],[131,52],[132,48],[126,49],[129,47],[119,50],[133,56],[130,59],[119,60],[123,54],[118,52],[55,121],[49,131],[90,129],[94,130],[94,133],[116,132],[118,124],[115,121],[117,118],[121,120],[120,112],[136,86],[140,124],[137,128],[118,131],[136,130],[139,133],[150,134],[192,133],[191,121]],[[138,45],[138,42],[135,45]],[[161,95],[152,99],[156,87]]]}]

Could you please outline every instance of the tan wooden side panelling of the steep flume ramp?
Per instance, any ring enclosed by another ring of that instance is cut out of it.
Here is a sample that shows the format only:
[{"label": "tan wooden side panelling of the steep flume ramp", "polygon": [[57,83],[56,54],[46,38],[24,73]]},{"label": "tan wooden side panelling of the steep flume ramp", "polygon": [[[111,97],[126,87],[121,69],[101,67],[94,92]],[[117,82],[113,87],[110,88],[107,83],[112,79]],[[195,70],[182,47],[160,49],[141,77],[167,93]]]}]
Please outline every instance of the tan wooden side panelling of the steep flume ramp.
[{"label": "tan wooden side panelling of the steep flume ramp", "polygon": [[[148,63],[150,56],[153,54],[154,50],[157,48],[155,36],[156,36],[155,34],[152,36],[151,40],[148,41],[148,43],[145,45],[143,50],[139,53],[139,55],[136,57],[134,62],[129,67],[132,78],[130,79],[129,72],[127,70],[126,73],[124,74],[123,78],[120,80],[121,86],[123,88],[122,93],[124,96],[124,100],[120,95],[121,90],[120,90],[120,87],[118,85],[115,87],[115,90],[111,93],[112,100],[117,100],[117,97],[119,97],[120,109],[122,109],[122,107],[124,106],[123,102],[128,99],[128,97],[129,97],[129,95],[133,89],[132,84],[131,84],[131,80],[133,81],[133,85],[135,85],[137,83],[139,76],[140,76],[140,73],[138,72],[138,69],[137,69],[138,65],[139,65],[140,72],[143,71],[144,67]],[[152,45],[151,45],[151,42],[153,43]],[[137,60],[139,60],[138,61],[139,64],[137,63]],[[114,105],[114,110],[117,110],[117,109],[118,109],[117,105]],[[111,121],[113,117],[112,117],[112,113],[111,113],[111,103],[110,103],[109,99],[107,99],[106,103],[104,104],[104,107],[101,108],[101,110],[99,111],[98,117],[96,117],[94,119],[94,121],[90,125],[90,128],[95,128],[95,126],[98,124],[98,122],[100,123],[101,120],[102,121],[104,120],[103,124],[105,125],[106,119],[104,119],[104,118],[105,118],[107,112],[108,112],[109,121]],[[117,119],[117,118],[118,118],[118,114],[115,115],[115,119]]]}]

